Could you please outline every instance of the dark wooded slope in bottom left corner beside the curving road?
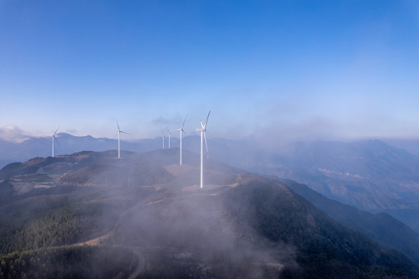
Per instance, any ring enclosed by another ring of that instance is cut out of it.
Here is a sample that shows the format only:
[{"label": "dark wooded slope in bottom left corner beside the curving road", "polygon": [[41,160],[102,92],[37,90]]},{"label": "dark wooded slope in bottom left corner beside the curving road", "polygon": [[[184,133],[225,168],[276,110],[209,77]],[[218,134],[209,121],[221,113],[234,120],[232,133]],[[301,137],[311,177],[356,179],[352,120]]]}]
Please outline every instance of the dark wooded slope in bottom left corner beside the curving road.
[{"label": "dark wooded slope in bottom left corner beside the curving road", "polygon": [[138,262],[126,248],[79,246],[0,254],[0,279],[126,278]]}]

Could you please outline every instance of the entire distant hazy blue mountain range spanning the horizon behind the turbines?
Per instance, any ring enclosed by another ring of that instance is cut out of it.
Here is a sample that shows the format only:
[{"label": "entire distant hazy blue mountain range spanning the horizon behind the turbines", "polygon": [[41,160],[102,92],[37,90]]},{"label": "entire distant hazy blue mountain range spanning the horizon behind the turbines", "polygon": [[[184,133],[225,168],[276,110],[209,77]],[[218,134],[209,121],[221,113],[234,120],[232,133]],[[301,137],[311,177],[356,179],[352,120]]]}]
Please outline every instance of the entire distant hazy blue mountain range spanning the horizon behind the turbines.
[{"label": "entire distant hazy blue mountain range spanning the horizon behind the turbines", "polygon": [[[115,150],[116,139],[75,137],[59,133],[55,154],[80,150]],[[411,142],[410,142],[411,143]],[[171,138],[171,146],[179,139]],[[183,148],[199,153],[198,136],[183,138]],[[361,142],[296,142],[272,150],[251,140],[209,139],[210,158],[243,170],[289,178],[358,209],[387,212],[419,232],[419,156],[379,140]],[[398,142],[403,145],[403,142]],[[406,143],[405,143],[406,145]],[[168,147],[166,139],[165,147]],[[147,152],[162,148],[162,137],[121,142],[122,150]],[[51,155],[51,137],[21,143],[0,140],[5,165]],[[114,151],[116,152],[116,151]]]}]

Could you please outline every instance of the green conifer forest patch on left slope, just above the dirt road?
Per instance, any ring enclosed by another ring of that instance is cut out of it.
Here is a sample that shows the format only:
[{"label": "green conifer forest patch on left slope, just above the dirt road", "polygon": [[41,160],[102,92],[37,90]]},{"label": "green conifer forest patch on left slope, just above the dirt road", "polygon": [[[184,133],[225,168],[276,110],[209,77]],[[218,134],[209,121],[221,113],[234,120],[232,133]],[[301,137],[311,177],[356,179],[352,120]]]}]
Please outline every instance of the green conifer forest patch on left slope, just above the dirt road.
[{"label": "green conifer forest patch on left slope, just above the dirt road", "polygon": [[83,241],[103,232],[103,202],[65,200],[14,212],[0,221],[3,254]]}]

